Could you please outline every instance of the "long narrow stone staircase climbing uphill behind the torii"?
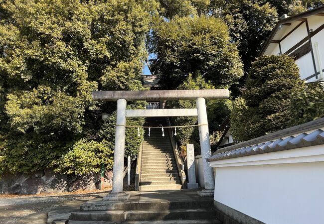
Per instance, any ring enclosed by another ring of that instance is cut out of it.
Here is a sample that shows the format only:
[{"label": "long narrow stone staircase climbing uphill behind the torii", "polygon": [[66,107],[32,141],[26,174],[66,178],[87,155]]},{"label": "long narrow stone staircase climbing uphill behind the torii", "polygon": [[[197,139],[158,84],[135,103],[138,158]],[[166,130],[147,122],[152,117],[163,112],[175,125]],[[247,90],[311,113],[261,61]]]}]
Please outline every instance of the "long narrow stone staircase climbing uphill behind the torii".
[{"label": "long narrow stone staircase climbing uphill behind the torii", "polygon": [[[163,117],[146,118],[145,126],[166,126]],[[141,191],[177,190],[182,185],[167,129],[146,128],[142,150]]]}]

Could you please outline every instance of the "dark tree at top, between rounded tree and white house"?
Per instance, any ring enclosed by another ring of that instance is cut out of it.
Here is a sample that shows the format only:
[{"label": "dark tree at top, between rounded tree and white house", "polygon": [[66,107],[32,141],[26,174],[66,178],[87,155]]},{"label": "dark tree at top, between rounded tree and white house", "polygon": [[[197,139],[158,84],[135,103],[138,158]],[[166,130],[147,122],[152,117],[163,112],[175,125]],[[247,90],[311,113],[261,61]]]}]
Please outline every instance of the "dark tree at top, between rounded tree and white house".
[{"label": "dark tree at top, between rounded tree and white house", "polygon": [[245,69],[249,69],[278,21],[277,9],[268,2],[232,0],[224,6],[221,16],[228,24],[232,41],[239,43]]}]

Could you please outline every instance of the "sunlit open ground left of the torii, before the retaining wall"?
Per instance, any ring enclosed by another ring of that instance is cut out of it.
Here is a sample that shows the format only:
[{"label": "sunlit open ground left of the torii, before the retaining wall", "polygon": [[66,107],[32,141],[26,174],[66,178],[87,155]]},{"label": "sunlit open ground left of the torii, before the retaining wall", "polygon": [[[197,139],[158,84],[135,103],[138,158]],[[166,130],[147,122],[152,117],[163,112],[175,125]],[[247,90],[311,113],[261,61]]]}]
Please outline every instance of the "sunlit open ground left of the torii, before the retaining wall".
[{"label": "sunlit open ground left of the torii, before the retaining wall", "polygon": [[47,212],[71,202],[79,207],[102,193],[0,198],[0,224],[44,224]]}]

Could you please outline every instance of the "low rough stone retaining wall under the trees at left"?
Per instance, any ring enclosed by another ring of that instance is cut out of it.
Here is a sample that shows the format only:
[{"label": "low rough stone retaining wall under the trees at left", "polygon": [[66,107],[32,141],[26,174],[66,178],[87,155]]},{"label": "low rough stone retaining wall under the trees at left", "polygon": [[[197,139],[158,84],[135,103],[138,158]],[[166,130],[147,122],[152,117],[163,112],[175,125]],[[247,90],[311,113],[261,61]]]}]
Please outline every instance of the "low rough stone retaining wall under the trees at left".
[{"label": "low rough stone retaining wall under the trees at left", "polygon": [[[112,186],[113,172],[107,171],[104,176],[104,187]],[[61,193],[76,190],[99,189],[99,174],[83,176],[60,175],[49,169],[39,170],[29,175],[4,174],[0,180],[1,194],[40,194]]]}]

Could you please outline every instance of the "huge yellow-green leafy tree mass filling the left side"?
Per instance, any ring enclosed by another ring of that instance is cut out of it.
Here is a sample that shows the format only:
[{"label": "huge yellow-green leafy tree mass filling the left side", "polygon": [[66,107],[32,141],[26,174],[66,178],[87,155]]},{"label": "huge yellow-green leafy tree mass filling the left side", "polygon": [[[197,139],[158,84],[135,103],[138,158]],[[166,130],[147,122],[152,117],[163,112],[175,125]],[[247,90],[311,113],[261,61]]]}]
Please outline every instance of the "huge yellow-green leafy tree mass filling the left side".
[{"label": "huge yellow-green leafy tree mass filling the left side", "polygon": [[[93,102],[91,92],[143,89],[156,7],[149,0],[0,0],[1,170],[111,167],[112,136],[99,132],[114,124],[100,117],[113,116],[116,104]],[[126,155],[134,158],[139,141],[127,139]]]}]

